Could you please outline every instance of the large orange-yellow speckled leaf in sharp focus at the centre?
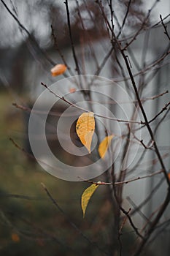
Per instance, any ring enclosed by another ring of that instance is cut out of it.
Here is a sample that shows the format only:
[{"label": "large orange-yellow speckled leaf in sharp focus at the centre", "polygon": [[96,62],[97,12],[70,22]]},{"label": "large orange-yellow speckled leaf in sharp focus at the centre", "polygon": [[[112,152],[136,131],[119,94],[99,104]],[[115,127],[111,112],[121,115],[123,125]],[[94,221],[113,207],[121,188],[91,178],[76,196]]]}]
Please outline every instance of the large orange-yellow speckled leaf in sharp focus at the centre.
[{"label": "large orange-yellow speckled leaf in sharp focus at the centre", "polygon": [[95,120],[93,112],[82,113],[76,124],[76,132],[81,143],[88,149],[90,153],[91,141],[95,129]]}]

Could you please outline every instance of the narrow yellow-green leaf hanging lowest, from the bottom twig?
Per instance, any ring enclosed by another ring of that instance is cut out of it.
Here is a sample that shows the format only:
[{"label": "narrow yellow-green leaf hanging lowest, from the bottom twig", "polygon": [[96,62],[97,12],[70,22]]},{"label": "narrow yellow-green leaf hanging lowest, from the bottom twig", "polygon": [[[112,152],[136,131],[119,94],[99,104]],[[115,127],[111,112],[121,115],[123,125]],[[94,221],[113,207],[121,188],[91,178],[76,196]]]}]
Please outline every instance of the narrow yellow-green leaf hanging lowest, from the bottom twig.
[{"label": "narrow yellow-green leaf hanging lowest, from the bottom twig", "polygon": [[83,218],[85,218],[85,211],[88,206],[88,202],[90,200],[90,197],[93,195],[95,190],[98,188],[97,184],[92,184],[90,187],[85,189],[85,191],[82,193],[82,213]]}]

